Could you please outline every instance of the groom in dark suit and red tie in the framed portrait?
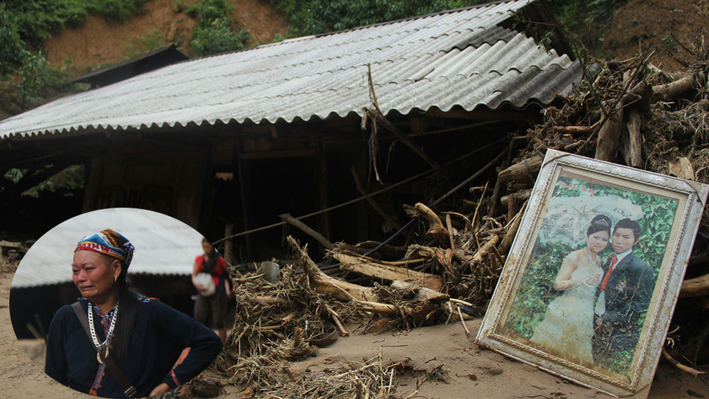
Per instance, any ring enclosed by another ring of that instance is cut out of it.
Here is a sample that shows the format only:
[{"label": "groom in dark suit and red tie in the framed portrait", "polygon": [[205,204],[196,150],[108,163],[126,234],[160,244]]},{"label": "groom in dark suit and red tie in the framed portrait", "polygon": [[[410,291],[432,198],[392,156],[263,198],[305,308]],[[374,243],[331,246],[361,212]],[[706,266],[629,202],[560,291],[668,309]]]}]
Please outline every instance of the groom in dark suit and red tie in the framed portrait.
[{"label": "groom in dark suit and red tie in the framed portrait", "polygon": [[652,298],[652,266],[632,252],[639,238],[640,225],[635,220],[619,220],[611,237],[615,253],[603,265],[593,357],[606,369],[610,369],[620,352],[635,351],[642,327],[638,321],[647,312]]}]

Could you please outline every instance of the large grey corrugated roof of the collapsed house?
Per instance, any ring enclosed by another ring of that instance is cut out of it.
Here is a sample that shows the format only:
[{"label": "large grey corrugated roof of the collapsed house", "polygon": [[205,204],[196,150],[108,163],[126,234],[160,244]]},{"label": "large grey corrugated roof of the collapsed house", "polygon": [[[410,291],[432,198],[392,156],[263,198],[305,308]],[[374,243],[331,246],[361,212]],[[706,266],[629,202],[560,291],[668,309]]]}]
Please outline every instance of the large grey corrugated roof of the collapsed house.
[{"label": "large grey corrugated roof of the collapsed house", "polygon": [[498,26],[530,0],[307,36],[169,65],[0,122],[0,137],[84,128],[361,115],[367,64],[384,113],[548,103],[578,62]]}]

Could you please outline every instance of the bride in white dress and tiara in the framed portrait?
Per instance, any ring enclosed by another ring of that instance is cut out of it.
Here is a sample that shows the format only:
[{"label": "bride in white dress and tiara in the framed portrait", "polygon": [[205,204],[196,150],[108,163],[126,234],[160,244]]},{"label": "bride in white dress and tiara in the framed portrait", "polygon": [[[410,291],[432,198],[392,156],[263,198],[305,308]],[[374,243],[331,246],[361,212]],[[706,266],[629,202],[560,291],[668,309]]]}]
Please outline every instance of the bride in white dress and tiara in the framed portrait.
[{"label": "bride in white dress and tiara in the framed portrait", "polygon": [[565,292],[549,303],[544,320],[534,329],[532,342],[566,359],[593,363],[593,306],[603,274],[598,254],[608,247],[609,238],[610,218],[597,215],[586,232],[588,245],[564,258],[554,288]]}]

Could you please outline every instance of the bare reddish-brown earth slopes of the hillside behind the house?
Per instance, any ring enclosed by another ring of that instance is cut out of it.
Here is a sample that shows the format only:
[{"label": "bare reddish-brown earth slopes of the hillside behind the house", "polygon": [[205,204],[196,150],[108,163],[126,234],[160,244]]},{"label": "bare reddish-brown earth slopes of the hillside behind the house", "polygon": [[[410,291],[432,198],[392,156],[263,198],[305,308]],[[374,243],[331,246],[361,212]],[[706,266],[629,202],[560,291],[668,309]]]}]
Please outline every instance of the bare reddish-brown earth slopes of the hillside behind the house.
[{"label": "bare reddish-brown earth slopes of the hillside behind the house", "polygon": [[[186,0],[192,4],[196,0]],[[47,40],[48,60],[55,65],[70,60],[77,69],[125,60],[125,43],[160,30],[166,38],[189,42],[196,21],[178,12],[174,0],[148,0],[148,12],[121,24],[89,16],[79,28],[67,28]],[[288,21],[263,0],[233,0],[233,18],[250,31],[251,45],[269,43],[277,33],[285,35]],[[688,50],[702,40],[707,21],[707,0],[631,0],[618,9],[608,23],[588,23],[576,30],[592,55],[619,60],[633,57],[639,49],[657,48],[651,62],[669,70],[681,69],[691,60]]]}]

